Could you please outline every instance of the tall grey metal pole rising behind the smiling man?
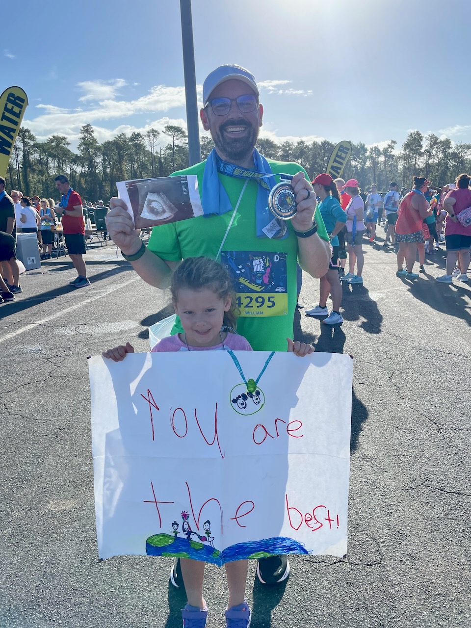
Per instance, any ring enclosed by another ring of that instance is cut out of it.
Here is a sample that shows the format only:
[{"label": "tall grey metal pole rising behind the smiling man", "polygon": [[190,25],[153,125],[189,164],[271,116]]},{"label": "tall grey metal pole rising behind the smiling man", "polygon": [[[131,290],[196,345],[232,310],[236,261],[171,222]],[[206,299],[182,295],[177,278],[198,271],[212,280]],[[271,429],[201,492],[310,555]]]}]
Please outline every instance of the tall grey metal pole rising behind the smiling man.
[{"label": "tall grey metal pole rising behind the smiling man", "polygon": [[201,161],[196,95],[195,48],[193,46],[192,0],[180,0],[181,41],[183,43],[183,72],[187,100],[188,160],[190,166]]}]

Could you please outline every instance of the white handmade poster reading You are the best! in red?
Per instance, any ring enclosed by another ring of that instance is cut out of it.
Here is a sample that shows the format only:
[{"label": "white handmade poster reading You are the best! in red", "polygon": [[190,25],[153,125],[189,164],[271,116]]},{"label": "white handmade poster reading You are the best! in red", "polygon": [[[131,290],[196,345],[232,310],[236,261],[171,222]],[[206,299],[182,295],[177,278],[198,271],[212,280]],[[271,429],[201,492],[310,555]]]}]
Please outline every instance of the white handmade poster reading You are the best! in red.
[{"label": "white handmade poster reading You are the best! in red", "polygon": [[100,558],[347,552],[349,355],[89,360]]}]

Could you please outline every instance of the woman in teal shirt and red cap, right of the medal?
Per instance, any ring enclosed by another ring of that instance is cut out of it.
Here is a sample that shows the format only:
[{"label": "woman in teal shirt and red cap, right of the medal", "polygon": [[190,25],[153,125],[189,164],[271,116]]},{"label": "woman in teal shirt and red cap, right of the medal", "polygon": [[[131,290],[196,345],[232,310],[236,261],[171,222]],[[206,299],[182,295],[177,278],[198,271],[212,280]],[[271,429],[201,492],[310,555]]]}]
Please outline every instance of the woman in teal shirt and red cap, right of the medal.
[{"label": "woman in teal shirt and red cap, right of the medal", "polygon": [[[312,181],[315,195],[320,198],[318,210],[320,211],[325,228],[329,234],[332,245],[332,259],[327,273],[320,278],[320,298],[319,305],[312,310],[307,310],[308,316],[327,316],[322,322],[327,325],[337,325],[343,323],[344,319],[340,314],[340,303],[342,303],[342,284],[338,276],[338,232],[343,229],[347,222],[340,200],[338,198],[337,186],[333,183],[332,176],[327,174],[317,175]],[[327,298],[332,295],[332,312],[328,314]]]}]

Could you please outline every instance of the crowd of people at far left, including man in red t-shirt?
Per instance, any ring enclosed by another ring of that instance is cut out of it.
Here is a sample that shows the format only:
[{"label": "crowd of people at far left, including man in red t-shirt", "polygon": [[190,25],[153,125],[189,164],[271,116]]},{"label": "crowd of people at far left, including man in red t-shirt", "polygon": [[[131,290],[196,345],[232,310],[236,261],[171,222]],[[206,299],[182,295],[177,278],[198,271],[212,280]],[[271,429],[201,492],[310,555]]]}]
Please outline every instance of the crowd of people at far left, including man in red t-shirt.
[{"label": "crowd of people at far left, including man in red t-shirt", "polygon": [[[65,175],[55,177],[60,201],[41,198],[38,195],[27,197],[19,190],[5,192],[5,180],[0,177],[0,303],[13,301],[14,296],[23,292],[19,284],[19,264],[16,255],[17,234],[35,233],[38,239],[38,257],[41,262],[51,259],[53,249],[64,246],[77,270],[77,278],[70,281],[74,288],[90,285],[87,277],[84,255],[86,219],[89,212],[107,209],[102,200],[84,202],[70,187]],[[62,238],[64,239],[61,242]]]}]

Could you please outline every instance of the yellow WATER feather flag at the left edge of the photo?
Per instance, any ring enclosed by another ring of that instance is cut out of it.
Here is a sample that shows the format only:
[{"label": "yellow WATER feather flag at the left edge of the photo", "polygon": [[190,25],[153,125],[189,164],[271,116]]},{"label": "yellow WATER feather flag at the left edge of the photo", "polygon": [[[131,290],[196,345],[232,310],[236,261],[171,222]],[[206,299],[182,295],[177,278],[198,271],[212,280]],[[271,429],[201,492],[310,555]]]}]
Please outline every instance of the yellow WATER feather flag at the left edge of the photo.
[{"label": "yellow WATER feather flag at the left edge of the photo", "polygon": [[6,175],[28,96],[21,87],[8,87],[0,96],[0,175]]}]

